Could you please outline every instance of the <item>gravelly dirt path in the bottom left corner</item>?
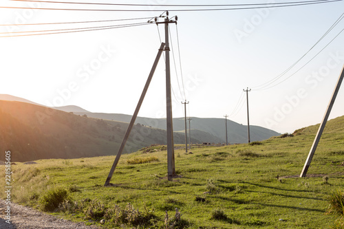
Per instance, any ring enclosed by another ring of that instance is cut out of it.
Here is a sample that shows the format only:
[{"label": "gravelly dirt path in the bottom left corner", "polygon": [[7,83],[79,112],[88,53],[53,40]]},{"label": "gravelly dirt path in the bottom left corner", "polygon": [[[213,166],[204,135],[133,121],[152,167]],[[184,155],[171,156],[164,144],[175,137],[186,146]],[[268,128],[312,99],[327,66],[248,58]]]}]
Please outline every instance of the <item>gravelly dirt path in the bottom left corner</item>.
[{"label": "gravelly dirt path in the bottom left corner", "polygon": [[1,229],[96,229],[96,226],[85,226],[84,223],[74,223],[47,215],[33,208],[11,203],[11,223],[6,223],[5,201],[0,199],[0,228]]}]

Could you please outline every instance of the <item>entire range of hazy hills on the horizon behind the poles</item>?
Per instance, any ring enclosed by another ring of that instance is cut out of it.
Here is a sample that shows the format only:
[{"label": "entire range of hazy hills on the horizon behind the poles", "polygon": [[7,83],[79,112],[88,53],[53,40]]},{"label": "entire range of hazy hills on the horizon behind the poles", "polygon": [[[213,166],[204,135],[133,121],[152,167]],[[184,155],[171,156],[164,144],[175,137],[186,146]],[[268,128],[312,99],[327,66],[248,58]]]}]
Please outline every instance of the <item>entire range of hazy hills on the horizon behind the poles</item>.
[{"label": "entire range of hazy hills on the horizon behind the poles", "polygon": [[[0,144],[14,152],[14,161],[116,155],[130,120],[125,114],[92,113],[76,106],[49,108],[0,95]],[[227,122],[229,142],[247,142],[247,127]],[[193,144],[226,142],[224,119],[192,118],[191,127]],[[165,129],[165,119],[138,117],[125,153],[150,144],[166,144]],[[175,144],[184,144],[184,118],[173,119],[173,131]],[[274,135],[279,133],[250,126],[252,142]]]}]

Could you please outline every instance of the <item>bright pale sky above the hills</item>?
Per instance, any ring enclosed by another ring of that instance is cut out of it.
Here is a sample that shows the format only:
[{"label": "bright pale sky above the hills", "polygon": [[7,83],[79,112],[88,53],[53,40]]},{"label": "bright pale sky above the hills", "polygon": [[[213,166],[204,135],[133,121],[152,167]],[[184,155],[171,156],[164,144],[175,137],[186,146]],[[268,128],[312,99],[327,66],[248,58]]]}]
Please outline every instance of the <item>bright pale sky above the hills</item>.
[{"label": "bright pale sky above the hills", "polygon": [[[114,3],[110,0],[93,2]],[[116,1],[120,2],[152,5],[258,3],[249,0],[197,3],[189,0]],[[4,0],[0,1],[0,6],[120,8]],[[127,6],[120,9],[133,8]],[[140,6],[135,9],[162,8]],[[184,105],[181,102],[185,100],[185,94],[186,100],[190,102],[187,116],[224,118],[224,115],[228,114],[230,120],[247,124],[246,100],[240,98],[246,98],[243,89],[248,87],[252,89],[248,93],[252,125],[280,133],[292,133],[295,129],[321,122],[344,64],[344,32],[339,34],[344,29],[344,20],[339,21],[308,54],[306,52],[341,17],[343,9],[344,1],[336,1],[260,10],[170,12],[170,17],[178,15],[183,73],[182,77],[177,30],[176,26],[171,24],[172,45],[178,70],[177,78],[171,52],[173,117],[184,116]],[[146,22],[147,19],[108,23],[3,26],[14,23],[136,19],[159,16],[162,12],[163,10],[90,12],[1,8],[0,29],[3,32],[1,36],[8,36],[11,34],[4,32],[18,35],[14,32],[118,25]],[[163,25],[159,25],[159,30],[164,40]],[[339,35],[334,39],[337,34]],[[153,23],[112,30],[0,39],[0,94],[19,96],[42,105],[77,105],[92,112],[126,114],[132,114],[136,108],[160,46],[157,25]],[[334,41],[330,43],[332,39]],[[328,43],[330,44],[325,47]],[[305,57],[289,72],[259,90],[259,85],[279,76],[304,54]],[[314,56],[316,57],[310,61]],[[305,65],[308,61],[310,63]],[[305,67],[301,68],[303,65]],[[297,72],[298,69],[300,70]],[[165,117],[164,74],[162,58],[139,116]],[[281,82],[282,80],[284,81]],[[344,115],[343,104],[344,85],[337,96],[330,118]]]}]

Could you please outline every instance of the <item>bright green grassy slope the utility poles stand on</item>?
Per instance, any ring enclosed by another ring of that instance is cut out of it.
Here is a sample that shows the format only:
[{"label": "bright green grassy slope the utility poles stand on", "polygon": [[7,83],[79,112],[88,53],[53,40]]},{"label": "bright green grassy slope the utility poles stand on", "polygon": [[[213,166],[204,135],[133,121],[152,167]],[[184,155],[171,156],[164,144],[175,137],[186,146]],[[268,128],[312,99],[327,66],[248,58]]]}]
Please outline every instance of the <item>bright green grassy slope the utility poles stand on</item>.
[{"label": "bright green grassy slope the utility poles stand on", "polygon": [[[163,146],[123,155],[109,187],[103,184],[114,156],[18,163],[12,199],[39,208],[48,190],[67,190],[74,204],[66,202],[54,215],[98,225],[106,219],[103,228],[166,228],[165,211],[173,223],[175,208],[182,213],[175,228],[330,228],[337,217],[325,215],[327,198],[344,188],[343,120],[328,122],[334,129],[325,131],[305,178],[298,176],[314,127],[252,144],[176,150],[173,182],[166,180]],[[140,221],[121,226],[123,212]]]}]

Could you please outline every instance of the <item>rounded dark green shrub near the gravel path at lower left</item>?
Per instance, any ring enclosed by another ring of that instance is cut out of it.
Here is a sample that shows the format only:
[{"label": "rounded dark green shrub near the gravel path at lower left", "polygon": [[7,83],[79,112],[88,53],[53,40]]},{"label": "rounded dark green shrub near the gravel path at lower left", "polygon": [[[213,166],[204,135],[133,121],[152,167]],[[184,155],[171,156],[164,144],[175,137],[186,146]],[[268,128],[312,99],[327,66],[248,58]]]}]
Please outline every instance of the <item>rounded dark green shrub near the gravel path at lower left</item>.
[{"label": "rounded dark green shrub near the gravel path at lower left", "polygon": [[53,211],[58,205],[68,199],[68,192],[63,187],[47,190],[39,199],[39,204],[44,211]]}]

